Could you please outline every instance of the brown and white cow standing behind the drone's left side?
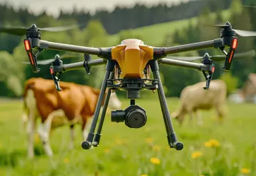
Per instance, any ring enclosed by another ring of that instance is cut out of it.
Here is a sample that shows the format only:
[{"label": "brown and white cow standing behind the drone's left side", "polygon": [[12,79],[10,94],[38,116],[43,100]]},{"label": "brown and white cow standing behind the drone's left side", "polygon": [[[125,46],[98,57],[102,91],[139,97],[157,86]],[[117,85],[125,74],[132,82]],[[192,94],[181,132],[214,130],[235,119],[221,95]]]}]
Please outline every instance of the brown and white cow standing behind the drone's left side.
[{"label": "brown and white cow standing behind the drone's left side", "polygon": [[[49,145],[49,133],[53,128],[68,124],[71,140],[69,148],[74,143],[74,124],[82,125],[84,140],[88,135],[92,123],[92,116],[97,105],[100,90],[75,83],[59,82],[62,90],[58,92],[54,81],[44,78],[31,78],[26,81],[24,88],[24,113],[23,120],[28,135],[28,156],[34,157],[34,133],[36,118],[41,118],[39,137],[44,145],[46,155],[53,152]],[[105,93],[104,98],[107,93]],[[103,104],[102,104],[103,105]],[[112,92],[108,108],[121,108],[122,103]],[[89,121],[89,122],[88,122]]]}]

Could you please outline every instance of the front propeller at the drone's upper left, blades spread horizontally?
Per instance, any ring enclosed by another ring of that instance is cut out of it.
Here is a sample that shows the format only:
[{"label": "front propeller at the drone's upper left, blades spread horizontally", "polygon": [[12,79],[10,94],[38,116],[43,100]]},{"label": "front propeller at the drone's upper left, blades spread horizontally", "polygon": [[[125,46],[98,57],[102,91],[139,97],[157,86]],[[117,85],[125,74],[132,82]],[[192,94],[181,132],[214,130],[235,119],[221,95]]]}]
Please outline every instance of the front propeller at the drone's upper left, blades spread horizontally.
[{"label": "front propeller at the drone's upper left, blades spread horizontally", "polygon": [[6,26],[0,27],[0,32],[13,34],[16,36],[23,36],[29,31],[36,32],[36,31],[50,31],[50,32],[59,32],[59,31],[67,31],[70,29],[79,28],[79,25],[70,25],[70,26],[58,26],[58,27],[48,27],[48,28],[38,28],[36,24],[32,24],[29,28],[24,26]]}]

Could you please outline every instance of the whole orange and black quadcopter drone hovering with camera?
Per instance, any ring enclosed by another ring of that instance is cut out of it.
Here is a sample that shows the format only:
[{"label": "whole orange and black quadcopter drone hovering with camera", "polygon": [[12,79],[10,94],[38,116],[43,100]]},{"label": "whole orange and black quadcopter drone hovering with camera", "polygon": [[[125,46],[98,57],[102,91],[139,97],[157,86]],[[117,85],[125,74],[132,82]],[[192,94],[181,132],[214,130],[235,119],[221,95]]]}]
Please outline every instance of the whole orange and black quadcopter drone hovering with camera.
[{"label": "whole orange and black quadcopter drone hovering with camera", "polygon": [[[196,51],[206,48],[217,48],[225,54],[224,71],[229,71],[232,58],[235,56],[238,44],[236,34],[240,36],[256,36],[256,32],[232,29],[229,21],[224,25],[214,26],[222,29],[220,31],[220,38],[171,47],[148,46],[144,44],[143,41],[136,38],[128,38],[123,40],[117,46],[104,48],[75,46],[41,40],[41,31],[65,31],[74,29],[74,26],[41,29],[37,28],[35,24],[32,24],[29,28],[4,27],[0,28],[0,32],[11,33],[18,36],[26,34],[24,47],[27,56],[29,57],[31,69],[34,73],[39,73],[40,71],[36,57],[41,51],[56,50],[84,54],[84,61],[76,63],[63,64],[59,55],[56,55],[54,60],[51,60],[50,73],[55,83],[56,90],[61,90],[59,87],[59,78],[61,73],[78,68],[85,68],[86,72],[90,73],[93,66],[106,65],[106,72],[102,81],[102,87],[100,88],[99,98],[97,100],[94,117],[92,119],[92,125],[89,130],[87,140],[82,143],[82,148],[84,150],[89,150],[92,146],[99,146],[104,117],[106,115],[109,97],[112,90],[127,91],[127,98],[130,100],[129,107],[125,110],[112,111],[111,120],[116,123],[124,122],[124,124],[129,128],[142,128],[147,122],[146,110],[135,103],[135,100],[139,98],[140,90],[152,90],[152,92],[157,91],[167,133],[168,145],[175,150],[182,150],[184,146],[177,140],[177,135],[174,132],[174,127],[170,118],[167,100],[164,95],[164,89],[159,74],[159,64],[195,68],[202,71],[206,80],[205,90],[208,90],[210,81],[212,80],[212,74],[215,71],[215,66],[209,54],[205,54],[201,63],[179,61],[178,59],[166,57],[169,54],[174,53]],[[229,48],[229,50],[225,51],[225,48]],[[90,57],[91,55],[98,56],[99,58],[92,60]],[[150,71],[153,74],[152,79],[149,77]],[[106,91],[107,95],[104,100]],[[99,120],[97,133],[94,134],[102,104],[102,115]]]}]

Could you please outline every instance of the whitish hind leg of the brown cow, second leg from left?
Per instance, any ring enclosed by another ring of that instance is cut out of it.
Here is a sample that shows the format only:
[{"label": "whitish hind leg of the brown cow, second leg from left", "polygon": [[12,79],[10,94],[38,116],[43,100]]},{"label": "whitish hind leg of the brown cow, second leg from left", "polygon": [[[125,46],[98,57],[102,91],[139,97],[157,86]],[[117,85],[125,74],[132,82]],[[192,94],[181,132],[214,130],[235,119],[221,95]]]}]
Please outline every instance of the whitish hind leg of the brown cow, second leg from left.
[{"label": "whitish hind leg of the brown cow, second leg from left", "polygon": [[49,157],[53,155],[53,152],[51,150],[51,146],[49,143],[49,133],[51,131],[51,122],[54,119],[54,116],[64,116],[64,113],[62,110],[53,111],[48,115],[44,123],[40,124],[40,127],[39,127],[39,135],[44,145],[44,152]]}]

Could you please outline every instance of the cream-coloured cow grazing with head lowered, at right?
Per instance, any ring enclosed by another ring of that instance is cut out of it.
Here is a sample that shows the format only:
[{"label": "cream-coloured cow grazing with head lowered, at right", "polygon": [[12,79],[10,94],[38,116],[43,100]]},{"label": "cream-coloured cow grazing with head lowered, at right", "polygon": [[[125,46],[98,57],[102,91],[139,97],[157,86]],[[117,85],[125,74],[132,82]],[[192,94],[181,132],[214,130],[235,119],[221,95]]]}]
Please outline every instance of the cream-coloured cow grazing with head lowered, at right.
[{"label": "cream-coloured cow grazing with head lowered, at right", "polygon": [[192,113],[197,117],[198,125],[202,125],[202,119],[197,110],[210,110],[215,108],[220,122],[227,113],[227,86],[222,80],[213,80],[209,90],[204,90],[205,81],[187,86],[180,94],[180,106],[172,113],[172,118],[182,125],[184,115],[189,114],[192,120]]}]

